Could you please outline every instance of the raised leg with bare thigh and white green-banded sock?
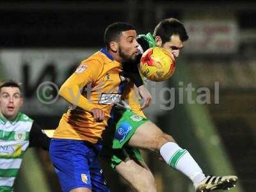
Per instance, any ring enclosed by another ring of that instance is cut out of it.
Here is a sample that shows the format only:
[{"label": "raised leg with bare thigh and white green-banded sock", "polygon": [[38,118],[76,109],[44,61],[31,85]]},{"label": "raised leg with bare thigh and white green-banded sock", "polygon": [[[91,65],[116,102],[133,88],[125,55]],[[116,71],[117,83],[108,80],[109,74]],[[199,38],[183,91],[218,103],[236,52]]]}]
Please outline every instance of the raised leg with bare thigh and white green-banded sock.
[{"label": "raised leg with bare thigh and white green-banded sock", "polygon": [[194,185],[205,179],[200,166],[195,159],[175,143],[172,136],[165,134],[152,122],[146,122],[138,127],[129,141],[129,145],[160,152],[166,164],[179,170],[191,179]]}]

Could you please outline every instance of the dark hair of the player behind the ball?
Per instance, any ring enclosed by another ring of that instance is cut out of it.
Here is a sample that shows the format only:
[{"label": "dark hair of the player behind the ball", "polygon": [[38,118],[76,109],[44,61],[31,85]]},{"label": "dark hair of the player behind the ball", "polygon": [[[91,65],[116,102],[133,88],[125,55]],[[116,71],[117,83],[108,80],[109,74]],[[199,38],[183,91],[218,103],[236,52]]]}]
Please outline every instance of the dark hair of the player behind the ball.
[{"label": "dark hair of the player behind the ball", "polygon": [[164,19],[159,22],[153,34],[154,37],[160,36],[163,44],[169,42],[170,36],[172,35],[179,35],[182,42],[188,40],[188,34],[184,25],[178,19],[174,18]]}]

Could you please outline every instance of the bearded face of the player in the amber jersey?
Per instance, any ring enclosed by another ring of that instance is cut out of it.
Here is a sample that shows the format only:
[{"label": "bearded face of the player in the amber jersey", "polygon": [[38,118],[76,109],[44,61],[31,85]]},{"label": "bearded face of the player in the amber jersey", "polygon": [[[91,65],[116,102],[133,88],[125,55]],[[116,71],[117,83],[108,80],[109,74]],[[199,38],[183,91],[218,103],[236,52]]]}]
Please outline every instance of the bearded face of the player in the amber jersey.
[{"label": "bearded face of the player in the amber jersey", "polygon": [[123,31],[122,35],[120,35],[118,42],[118,53],[125,62],[136,61],[139,54],[139,44],[136,41],[136,36],[137,34],[135,30]]}]

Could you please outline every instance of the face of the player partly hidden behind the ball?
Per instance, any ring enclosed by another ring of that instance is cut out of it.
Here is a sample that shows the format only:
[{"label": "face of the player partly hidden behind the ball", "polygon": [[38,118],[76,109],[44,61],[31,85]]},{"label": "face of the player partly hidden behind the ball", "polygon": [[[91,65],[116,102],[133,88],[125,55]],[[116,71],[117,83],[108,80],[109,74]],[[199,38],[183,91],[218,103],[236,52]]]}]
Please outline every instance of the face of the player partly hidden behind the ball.
[{"label": "face of the player partly hidden behind the ball", "polygon": [[184,47],[184,42],[182,42],[180,40],[179,35],[172,35],[170,37],[170,41],[165,42],[164,44],[161,44],[160,47],[170,50],[172,52],[173,56],[175,56],[175,58],[177,58],[177,57],[179,57],[180,50]]}]

